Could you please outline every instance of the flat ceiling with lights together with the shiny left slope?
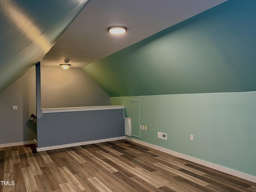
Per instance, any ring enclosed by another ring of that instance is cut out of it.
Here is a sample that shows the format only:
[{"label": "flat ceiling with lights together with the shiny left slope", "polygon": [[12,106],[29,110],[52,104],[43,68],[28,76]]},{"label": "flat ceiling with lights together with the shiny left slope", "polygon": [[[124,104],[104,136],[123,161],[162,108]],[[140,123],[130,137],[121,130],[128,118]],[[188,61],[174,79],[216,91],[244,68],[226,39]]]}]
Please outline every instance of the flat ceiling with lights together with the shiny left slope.
[{"label": "flat ceiling with lights together with the shiny left slope", "polygon": [[[38,61],[86,66],[225,1],[1,0],[0,91]],[[112,25],[128,32],[110,36]]]}]

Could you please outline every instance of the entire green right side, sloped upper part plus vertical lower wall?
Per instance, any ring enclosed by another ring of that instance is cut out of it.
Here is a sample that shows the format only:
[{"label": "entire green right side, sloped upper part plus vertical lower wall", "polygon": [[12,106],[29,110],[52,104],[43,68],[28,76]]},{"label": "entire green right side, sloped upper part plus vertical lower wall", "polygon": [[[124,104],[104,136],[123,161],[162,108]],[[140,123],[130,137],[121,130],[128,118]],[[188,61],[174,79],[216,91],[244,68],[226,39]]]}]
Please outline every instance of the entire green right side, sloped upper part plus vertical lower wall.
[{"label": "entire green right side, sloped upper part plus vertical lower wall", "polygon": [[126,116],[140,100],[140,140],[256,176],[255,10],[229,0],[83,70]]}]

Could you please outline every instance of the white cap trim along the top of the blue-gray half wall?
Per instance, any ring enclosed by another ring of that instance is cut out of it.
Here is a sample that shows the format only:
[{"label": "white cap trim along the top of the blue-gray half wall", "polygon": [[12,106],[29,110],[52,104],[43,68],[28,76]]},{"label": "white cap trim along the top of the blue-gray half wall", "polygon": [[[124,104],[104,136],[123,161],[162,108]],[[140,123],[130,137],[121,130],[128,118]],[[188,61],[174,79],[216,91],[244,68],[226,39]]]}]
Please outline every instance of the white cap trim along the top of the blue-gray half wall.
[{"label": "white cap trim along the top of the blue-gray half wall", "polygon": [[42,110],[42,113],[58,113],[58,112],[92,111],[92,110],[108,110],[108,109],[124,109],[124,105],[45,108],[41,110]]}]

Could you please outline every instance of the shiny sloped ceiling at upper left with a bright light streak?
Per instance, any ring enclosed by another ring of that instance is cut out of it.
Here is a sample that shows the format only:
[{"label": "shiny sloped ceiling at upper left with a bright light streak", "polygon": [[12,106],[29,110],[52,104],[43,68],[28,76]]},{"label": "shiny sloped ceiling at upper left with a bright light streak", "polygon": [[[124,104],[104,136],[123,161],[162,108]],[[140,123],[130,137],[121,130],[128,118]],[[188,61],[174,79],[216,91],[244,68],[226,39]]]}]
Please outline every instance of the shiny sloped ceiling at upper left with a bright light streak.
[{"label": "shiny sloped ceiling at upper left with a bright light streak", "polygon": [[0,0],[0,92],[42,60],[88,0]]}]

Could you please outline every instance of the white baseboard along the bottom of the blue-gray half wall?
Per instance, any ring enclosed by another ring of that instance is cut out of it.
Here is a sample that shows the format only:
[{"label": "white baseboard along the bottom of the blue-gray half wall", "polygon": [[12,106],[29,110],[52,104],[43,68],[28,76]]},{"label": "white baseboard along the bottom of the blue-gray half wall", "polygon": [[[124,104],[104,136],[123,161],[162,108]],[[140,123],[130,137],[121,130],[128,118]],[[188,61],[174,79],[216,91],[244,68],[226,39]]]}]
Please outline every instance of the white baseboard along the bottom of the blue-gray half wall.
[{"label": "white baseboard along the bottom of the blue-gray half wall", "polygon": [[84,142],[78,142],[78,143],[63,144],[63,145],[55,145],[55,146],[49,146],[49,147],[39,147],[39,148],[36,148],[36,151],[46,151],[46,150],[74,147],[74,146],[80,146],[80,145],[88,145],[88,144],[94,144],[94,143],[116,141],[116,140],[121,140],[121,139],[125,139],[125,136],[107,138],[107,139],[99,139],[99,140],[93,140],[93,141],[84,141]]}]

